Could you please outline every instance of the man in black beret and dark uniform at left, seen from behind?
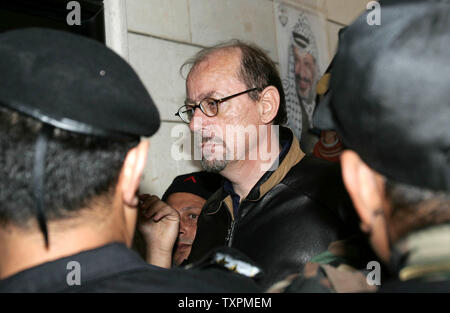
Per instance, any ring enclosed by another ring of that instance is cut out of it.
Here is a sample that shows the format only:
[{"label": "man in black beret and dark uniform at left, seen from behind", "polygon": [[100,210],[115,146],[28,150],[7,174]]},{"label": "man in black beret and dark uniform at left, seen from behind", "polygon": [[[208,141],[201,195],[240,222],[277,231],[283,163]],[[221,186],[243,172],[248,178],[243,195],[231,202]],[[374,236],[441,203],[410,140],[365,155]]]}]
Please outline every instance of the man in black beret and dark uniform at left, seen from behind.
[{"label": "man in black beret and dark uniform at left, seen from behind", "polygon": [[123,59],[67,32],[15,30],[0,36],[0,76],[1,292],[256,291],[238,274],[166,270],[128,249],[140,137],[160,119]]}]

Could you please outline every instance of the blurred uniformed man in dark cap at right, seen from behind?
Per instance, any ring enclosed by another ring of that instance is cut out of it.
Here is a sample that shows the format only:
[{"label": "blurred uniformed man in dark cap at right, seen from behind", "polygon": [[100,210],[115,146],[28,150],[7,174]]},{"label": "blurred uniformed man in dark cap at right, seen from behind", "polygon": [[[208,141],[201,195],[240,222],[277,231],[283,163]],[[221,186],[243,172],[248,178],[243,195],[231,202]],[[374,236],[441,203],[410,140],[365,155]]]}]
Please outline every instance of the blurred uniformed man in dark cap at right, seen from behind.
[{"label": "blurred uniformed man in dark cap at right, seen from behind", "polygon": [[379,26],[367,13],[348,26],[314,121],[343,140],[346,189],[386,267],[319,264],[286,291],[450,291],[450,3],[398,2]]}]

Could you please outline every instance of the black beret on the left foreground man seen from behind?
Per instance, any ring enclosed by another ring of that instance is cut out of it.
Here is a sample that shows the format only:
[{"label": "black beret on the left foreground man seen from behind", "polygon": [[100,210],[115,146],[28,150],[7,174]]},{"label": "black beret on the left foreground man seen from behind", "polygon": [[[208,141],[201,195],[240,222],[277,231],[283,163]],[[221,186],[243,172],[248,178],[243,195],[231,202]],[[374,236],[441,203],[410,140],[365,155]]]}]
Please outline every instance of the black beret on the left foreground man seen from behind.
[{"label": "black beret on the left foreground man seen from behind", "polygon": [[135,71],[114,51],[69,32],[0,35],[0,105],[68,131],[151,136],[160,118]]}]

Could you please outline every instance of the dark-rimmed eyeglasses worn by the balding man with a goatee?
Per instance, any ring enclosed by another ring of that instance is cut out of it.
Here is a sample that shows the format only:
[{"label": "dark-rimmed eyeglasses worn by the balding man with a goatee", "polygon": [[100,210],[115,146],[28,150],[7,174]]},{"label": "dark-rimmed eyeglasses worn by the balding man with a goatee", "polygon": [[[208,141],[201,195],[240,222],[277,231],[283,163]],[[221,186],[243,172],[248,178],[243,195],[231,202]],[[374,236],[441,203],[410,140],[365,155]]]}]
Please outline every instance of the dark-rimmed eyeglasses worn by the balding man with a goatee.
[{"label": "dark-rimmed eyeglasses worn by the balding man with a goatee", "polygon": [[260,90],[259,88],[252,88],[248,89],[242,92],[239,92],[237,94],[222,98],[222,99],[214,99],[214,98],[204,98],[201,100],[198,104],[189,102],[186,100],[181,108],[178,109],[178,112],[175,113],[175,116],[179,116],[183,122],[190,123],[192,120],[192,117],[194,116],[195,109],[200,108],[200,110],[208,117],[216,116],[219,113],[219,103],[225,102],[227,100],[230,100],[234,97],[243,95],[248,92],[252,92],[255,90]]}]

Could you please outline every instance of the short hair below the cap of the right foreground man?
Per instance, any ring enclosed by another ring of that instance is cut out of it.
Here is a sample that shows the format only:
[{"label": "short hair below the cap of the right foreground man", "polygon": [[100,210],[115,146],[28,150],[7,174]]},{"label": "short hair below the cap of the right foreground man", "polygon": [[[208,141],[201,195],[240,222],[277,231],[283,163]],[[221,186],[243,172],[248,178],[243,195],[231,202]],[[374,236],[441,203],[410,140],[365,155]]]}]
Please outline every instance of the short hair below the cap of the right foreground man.
[{"label": "short hair below the cap of the right foreground man", "polygon": [[411,231],[450,222],[450,194],[386,179],[386,198],[392,207],[393,241]]}]

